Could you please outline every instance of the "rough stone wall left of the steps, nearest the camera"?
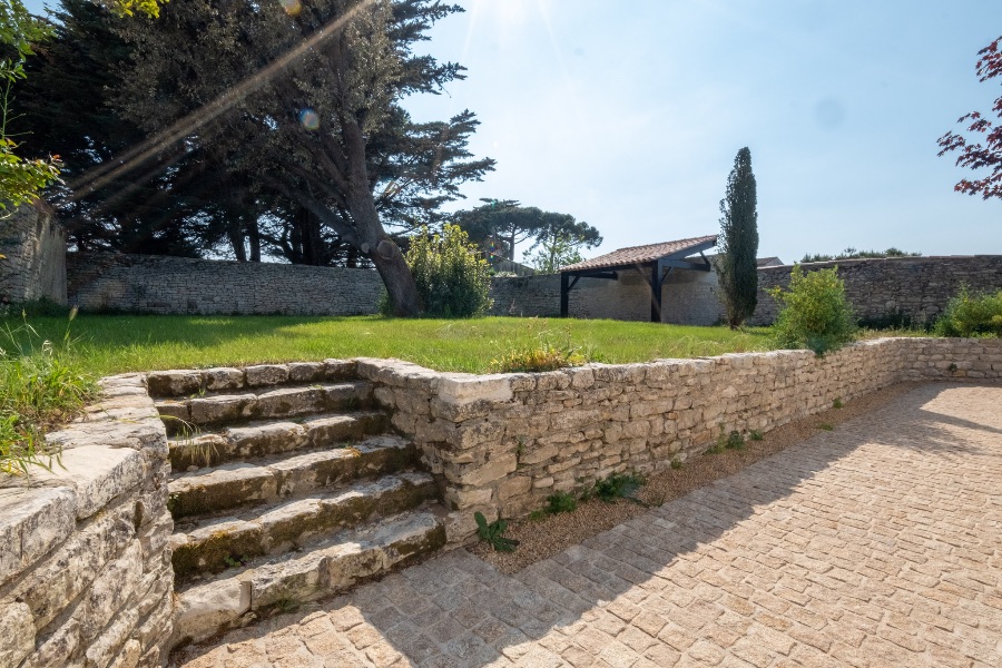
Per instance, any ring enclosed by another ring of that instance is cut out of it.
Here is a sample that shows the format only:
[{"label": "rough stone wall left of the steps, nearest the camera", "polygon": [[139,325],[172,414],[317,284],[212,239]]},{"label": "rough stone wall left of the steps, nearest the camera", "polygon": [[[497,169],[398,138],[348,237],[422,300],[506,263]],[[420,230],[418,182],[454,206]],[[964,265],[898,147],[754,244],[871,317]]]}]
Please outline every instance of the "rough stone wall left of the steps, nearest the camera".
[{"label": "rough stone wall left of the steps, nearest the camera", "polygon": [[141,375],[101,384],[84,419],[47,438],[61,466],[0,474],[0,668],[166,662],[167,436]]}]

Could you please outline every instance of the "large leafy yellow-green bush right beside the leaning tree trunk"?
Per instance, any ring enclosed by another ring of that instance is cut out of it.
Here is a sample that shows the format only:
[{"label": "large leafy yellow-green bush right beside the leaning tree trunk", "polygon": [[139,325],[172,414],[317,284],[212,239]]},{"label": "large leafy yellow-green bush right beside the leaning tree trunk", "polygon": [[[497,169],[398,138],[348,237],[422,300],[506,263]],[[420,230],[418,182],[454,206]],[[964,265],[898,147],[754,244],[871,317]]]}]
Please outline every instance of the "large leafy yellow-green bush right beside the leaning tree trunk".
[{"label": "large leafy yellow-green bush right beside the leaning tree trunk", "polygon": [[422,228],[411,239],[406,259],[425,315],[473,317],[490,308],[491,265],[459,226],[445,225],[434,236]]}]

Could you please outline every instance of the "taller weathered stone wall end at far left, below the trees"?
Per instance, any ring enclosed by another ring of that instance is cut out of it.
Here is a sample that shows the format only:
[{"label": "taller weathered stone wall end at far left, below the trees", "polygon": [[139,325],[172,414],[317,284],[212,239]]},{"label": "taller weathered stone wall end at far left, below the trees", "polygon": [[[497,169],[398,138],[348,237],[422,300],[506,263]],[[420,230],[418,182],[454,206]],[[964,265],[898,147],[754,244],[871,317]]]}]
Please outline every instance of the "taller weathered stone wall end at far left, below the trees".
[{"label": "taller weathered stone wall end at far left, below the trees", "polygon": [[66,229],[38,202],[0,218],[0,303],[51,299],[66,304]]}]

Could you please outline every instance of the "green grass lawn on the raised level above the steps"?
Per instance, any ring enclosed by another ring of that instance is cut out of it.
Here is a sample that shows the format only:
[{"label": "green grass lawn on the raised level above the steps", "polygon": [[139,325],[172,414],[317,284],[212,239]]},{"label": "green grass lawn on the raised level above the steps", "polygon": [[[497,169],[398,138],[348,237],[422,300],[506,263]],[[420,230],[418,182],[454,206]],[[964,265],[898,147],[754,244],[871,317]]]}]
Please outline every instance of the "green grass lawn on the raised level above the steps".
[{"label": "green grass lawn on the raised level above the steps", "polygon": [[[36,341],[61,341],[65,317],[29,316]],[[18,326],[20,318],[0,321]],[[484,317],[468,321],[285,316],[80,315],[68,355],[97,375],[127,371],[397,357],[440,371],[490,371],[491,360],[543,342],[580,347],[598,362],[698,357],[773,347],[768,330],[618,321]]]}]

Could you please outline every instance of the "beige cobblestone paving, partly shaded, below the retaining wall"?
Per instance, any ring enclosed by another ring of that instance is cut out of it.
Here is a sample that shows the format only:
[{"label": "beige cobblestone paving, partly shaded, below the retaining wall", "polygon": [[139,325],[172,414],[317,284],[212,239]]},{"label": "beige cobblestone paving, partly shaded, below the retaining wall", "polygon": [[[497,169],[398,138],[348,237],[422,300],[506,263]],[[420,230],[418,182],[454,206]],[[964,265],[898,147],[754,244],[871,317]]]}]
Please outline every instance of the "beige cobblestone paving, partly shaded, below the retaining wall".
[{"label": "beige cobblestone paving, partly shaded, below the retaining wall", "polygon": [[504,577],[458,551],[186,668],[1002,666],[1002,387],[924,385]]}]

